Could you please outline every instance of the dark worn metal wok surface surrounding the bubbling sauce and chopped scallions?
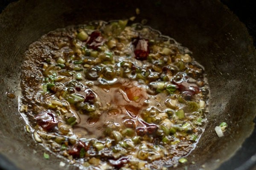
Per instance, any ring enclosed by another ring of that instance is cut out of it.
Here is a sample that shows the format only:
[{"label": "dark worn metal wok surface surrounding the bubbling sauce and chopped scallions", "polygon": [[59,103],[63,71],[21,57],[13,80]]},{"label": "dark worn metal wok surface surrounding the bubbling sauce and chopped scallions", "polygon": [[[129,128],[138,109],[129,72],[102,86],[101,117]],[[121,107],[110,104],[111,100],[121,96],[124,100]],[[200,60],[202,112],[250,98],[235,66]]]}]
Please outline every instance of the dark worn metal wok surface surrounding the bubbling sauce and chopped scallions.
[{"label": "dark worn metal wok surface surrounding the bubbling sauce and chopped scallions", "polygon": [[[147,19],[147,25],[193,51],[209,80],[209,123],[197,147],[187,157],[189,163],[176,169],[243,169],[255,163],[250,159],[256,153],[255,48],[245,26],[220,1],[20,0],[0,15],[0,164],[3,168],[78,169],[67,162],[65,167],[59,167],[59,162],[65,160],[54,154],[50,154],[49,160],[44,159],[43,153],[49,152],[25,131],[26,123],[18,113],[18,96],[20,64],[29,44],[56,28],[91,20],[129,18],[135,15],[135,8],[140,8],[136,21]],[[8,98],[6,92],[14,93],[15,98]],[[228,124],[222,138],[214,131],[220,122]],[[246,160],[249,162],[244,164]],[[191,164],[192,161],[196,163]]]}]

